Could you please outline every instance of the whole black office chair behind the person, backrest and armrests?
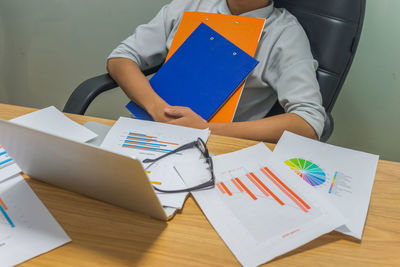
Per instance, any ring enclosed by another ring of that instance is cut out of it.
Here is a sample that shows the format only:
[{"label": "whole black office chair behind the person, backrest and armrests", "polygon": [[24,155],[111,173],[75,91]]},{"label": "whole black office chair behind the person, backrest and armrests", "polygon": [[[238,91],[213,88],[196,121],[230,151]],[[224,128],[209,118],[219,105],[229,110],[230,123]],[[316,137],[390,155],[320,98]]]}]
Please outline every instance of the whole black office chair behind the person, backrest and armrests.
[{"label": "whole black office chair behind the person, backrest and armrests", "polygon": [[[322,141],[333,132],[331,111],[357,50],[364,21],[366,0],[275,0],[297,17],[310,40],[314,58],[319,62],[317,78],[323,106],[327,112]],[[147,76],[161,66],[143,70]],[[84,114],[89,104],[101,93],[118,87],[103,74],[81,83],[69,97],[64,112]],[[267,116],[283,113],[276,103]]]}]

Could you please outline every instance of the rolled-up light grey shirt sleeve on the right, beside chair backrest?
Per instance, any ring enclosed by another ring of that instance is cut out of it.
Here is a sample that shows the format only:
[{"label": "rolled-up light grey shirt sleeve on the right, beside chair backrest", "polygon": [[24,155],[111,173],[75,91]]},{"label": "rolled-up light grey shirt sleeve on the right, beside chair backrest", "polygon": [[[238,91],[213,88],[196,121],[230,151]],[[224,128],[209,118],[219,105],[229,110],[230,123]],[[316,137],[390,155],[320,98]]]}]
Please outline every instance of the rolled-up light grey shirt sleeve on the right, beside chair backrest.
[{"label": "rolled-up light grey shirt sleeve on the right, beside chair backrest", "polygon": [[307,121],[320,137],[326,114],[316,78],[318,63],[303,28],[287,27],[273,45],[270,57],[265,75],[279,103],[286,113]]}]

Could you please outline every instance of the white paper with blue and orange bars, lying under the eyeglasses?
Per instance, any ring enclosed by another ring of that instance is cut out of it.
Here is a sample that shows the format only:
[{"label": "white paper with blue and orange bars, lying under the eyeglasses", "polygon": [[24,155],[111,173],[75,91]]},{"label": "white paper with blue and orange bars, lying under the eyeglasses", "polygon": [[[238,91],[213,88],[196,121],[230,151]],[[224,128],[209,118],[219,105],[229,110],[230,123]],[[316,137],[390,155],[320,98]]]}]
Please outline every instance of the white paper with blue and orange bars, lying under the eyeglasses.
[{"label": "white paper with blue and orange bars, lying under the eyeglasses", "polygon": [[[181,145],[201,138],[207,142],[210,131],[152,121],[121,117],[110,129],[101,144],[102,148],[133,156],[139,160],[156,158]],[[174,162],[187,158],[199,159],[197,148],[170,155],[151,165],[143,164],[154,186],[164,190],[185,188],[179,175],[173,170]],[[157,196],[163,206],[181,209],[188,193],[160,193]]]}]

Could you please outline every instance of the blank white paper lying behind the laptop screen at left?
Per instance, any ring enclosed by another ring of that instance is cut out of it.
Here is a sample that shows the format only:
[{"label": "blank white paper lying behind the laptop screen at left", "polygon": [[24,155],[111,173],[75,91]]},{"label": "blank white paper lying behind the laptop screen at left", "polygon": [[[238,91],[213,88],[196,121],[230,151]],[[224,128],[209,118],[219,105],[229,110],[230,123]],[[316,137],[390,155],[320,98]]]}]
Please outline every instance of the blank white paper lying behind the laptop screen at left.
[{"label": "blank white paper lying behind the laptop screen at left", "polygon": [[97,134],[69,119],[54,106],[17,117],[10,121],[81,143],[97,137]]}]

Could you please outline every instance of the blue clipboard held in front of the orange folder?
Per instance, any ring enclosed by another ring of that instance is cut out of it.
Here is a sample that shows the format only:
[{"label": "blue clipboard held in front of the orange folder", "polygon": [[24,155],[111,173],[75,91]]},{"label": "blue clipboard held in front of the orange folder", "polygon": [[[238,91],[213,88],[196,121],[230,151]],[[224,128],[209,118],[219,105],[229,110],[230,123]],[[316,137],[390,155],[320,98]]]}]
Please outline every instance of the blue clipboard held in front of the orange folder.
[{"label": "blue clipboard held in front of the orange folder", "polygon": [[[253,57],[201,23],[150,84],[168,104],[190,107],[209,120],[257,64]],[[132,101],[126,108],[138,119],[153,120]]]}]

